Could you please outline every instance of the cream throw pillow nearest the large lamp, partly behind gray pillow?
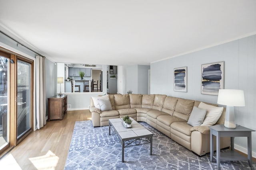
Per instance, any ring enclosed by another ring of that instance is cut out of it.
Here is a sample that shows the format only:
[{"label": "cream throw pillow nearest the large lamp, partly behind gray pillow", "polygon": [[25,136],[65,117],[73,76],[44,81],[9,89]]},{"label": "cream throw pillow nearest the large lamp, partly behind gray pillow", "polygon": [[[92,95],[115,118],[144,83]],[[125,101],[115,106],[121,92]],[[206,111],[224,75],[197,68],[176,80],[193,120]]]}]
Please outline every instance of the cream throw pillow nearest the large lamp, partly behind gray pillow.
[{"label": "cream throw pillow nearest the large lamp, partly behind gray pillow", "polygon": [[201,126],[214,125],[220,118],[223,111],[223,107],[216,107],[216,106],[205,104],[203,102],[199,104],[198,108],[207,110],[204,121]]}]

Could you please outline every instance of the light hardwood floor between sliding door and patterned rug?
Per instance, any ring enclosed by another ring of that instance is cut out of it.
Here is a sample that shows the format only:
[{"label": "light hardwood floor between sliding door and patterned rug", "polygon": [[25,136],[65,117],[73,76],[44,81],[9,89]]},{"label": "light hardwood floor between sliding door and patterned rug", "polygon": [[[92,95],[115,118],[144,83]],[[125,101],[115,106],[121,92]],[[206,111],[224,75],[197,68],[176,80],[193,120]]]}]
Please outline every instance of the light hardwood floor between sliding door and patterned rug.
[{"label": "light hardwood floor between sliding door and patterned rug", "polygon": [[8,169],[63,170],[75,122],[91,120],[91,117],[89,110],[68,111],[62,121],[47,122],[4,156],[0,160],[0,169],[5,165]]}]

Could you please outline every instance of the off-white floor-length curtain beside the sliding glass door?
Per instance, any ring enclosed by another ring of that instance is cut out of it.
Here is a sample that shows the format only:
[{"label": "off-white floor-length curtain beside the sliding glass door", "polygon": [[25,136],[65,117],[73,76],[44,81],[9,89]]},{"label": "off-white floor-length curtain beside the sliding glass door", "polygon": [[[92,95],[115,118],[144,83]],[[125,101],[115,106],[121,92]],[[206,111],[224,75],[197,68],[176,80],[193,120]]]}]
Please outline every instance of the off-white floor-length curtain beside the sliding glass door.
[{"label": "off-white floor-length curtain beside the sliding glass door", "polygon": [[36,127],[46,124],[45,58],[36,56]]}]

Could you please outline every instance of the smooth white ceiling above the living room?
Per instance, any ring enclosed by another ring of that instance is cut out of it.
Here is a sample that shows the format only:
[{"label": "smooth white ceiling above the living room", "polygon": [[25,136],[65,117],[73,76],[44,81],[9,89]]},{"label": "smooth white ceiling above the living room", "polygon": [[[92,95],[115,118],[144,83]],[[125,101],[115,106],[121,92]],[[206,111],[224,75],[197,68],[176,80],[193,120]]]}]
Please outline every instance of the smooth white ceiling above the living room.
[{"label": "smooth white ceiling above the living room", "polygon": [[0,0],[0,26],[54,62],[150,64],[256,34],[256,0]]}]

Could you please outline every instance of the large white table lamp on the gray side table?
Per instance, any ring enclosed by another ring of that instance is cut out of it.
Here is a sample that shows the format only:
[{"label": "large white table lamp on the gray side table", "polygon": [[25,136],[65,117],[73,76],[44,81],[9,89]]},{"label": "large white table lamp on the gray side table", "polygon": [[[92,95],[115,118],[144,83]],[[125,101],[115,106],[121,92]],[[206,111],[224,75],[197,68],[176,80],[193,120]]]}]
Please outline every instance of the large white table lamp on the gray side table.
[{"label": "large white table lamp on the gray side table", "polygon": [[234,106],[245,106],[244,90],[220,89],[217,103],[227,106],[224,126],[235,129]]}]

